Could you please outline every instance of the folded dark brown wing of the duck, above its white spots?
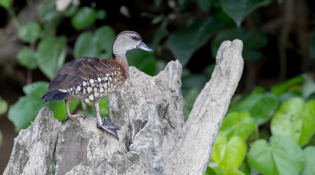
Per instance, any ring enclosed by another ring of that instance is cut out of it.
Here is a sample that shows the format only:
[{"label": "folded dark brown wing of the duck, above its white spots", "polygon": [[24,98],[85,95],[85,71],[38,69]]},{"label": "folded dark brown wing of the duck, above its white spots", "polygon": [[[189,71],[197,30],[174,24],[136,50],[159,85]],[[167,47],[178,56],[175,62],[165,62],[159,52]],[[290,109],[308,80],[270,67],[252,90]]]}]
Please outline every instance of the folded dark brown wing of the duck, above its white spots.
[{"label": "folded dark brown wing of the duck, above its white spots", "polygon": [[116,70],[118,64],[110,59],[99,57],[81,57],[60,68],[50,82],[48,91],[69,89],[83,81],[104,76]]}]

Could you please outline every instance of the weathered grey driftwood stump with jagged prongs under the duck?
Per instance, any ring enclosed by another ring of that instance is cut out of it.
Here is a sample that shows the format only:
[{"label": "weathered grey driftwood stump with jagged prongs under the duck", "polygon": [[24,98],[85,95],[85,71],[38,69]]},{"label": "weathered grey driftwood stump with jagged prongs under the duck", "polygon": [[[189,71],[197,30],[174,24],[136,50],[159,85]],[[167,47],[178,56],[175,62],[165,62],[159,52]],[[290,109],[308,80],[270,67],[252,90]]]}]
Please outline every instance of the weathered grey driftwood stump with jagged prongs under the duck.
[{"label": "weathered grey driftwood stump with jagged prongs under the duck", "polygon": [[[213,144],[243,71],[243,43],[224,41],[211,79],[183,120],[181,65],[157,76],[130,67],[122,88],[108,98],[119,140],[96,119],[62,125],[43,107],[14,139],[4,174],[204,174]],[[199,60],[202,62],[202,60]]]}]

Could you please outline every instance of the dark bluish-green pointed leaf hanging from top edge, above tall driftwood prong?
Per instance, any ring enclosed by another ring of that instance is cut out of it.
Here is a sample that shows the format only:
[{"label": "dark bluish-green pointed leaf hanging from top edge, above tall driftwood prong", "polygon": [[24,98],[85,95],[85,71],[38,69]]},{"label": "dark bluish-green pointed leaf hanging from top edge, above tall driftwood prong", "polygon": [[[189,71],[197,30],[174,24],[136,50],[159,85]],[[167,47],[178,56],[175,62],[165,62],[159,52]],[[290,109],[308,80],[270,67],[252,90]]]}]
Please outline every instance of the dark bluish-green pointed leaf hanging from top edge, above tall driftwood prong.
[{"label": "dark bluish-green pointed leaf hanging from top edge, above tall driftwood prong", "polygon": [[264,5],[266,0],[220,0],[221,8],[229,15],[238,27],[244,18],[256,8]]}]

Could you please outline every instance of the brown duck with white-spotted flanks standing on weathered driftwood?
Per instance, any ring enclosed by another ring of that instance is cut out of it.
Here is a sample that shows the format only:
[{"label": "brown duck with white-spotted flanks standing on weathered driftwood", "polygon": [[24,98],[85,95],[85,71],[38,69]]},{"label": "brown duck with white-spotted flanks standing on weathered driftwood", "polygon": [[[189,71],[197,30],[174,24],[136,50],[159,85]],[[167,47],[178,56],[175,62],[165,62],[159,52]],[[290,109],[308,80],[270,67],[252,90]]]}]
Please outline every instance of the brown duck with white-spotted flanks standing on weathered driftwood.
[{"label": "brown duck with white-spotted flanks standing on weathered driftwood", "polygon": [[111,59],[100,57],[80,57],[70,61],[56,73],[47,92],[40,99],[42,104],[65,100],[66,121],[83,117],[83,114],[71,114],[69,104],[81,99],[84,104],[94,102],[96,127],[106,130],[118,139],[118,127],[106,117],[100,115],[99,102],[102,98],[116,92],[128,78],[129,64],[126,52],[131,49],[154,52],[135,31],[123,31],[112,44]]}]

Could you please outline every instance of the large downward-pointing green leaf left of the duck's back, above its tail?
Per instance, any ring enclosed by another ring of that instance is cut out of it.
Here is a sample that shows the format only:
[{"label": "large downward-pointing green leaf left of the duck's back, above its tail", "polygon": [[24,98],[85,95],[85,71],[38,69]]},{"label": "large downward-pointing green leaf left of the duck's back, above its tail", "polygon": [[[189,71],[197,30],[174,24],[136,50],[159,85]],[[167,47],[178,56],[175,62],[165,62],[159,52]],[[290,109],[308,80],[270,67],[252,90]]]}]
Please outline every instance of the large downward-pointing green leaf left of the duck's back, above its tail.
[{"label": "large downward-pointing green leaf left of the duck's back, above its tail", "polygon": [[37,46],[37,65],[38,68],[52,80],[56,72],[63,66],[66,58],[66,40],[65,36],[55,38],[54,36],[45,36]]}]

